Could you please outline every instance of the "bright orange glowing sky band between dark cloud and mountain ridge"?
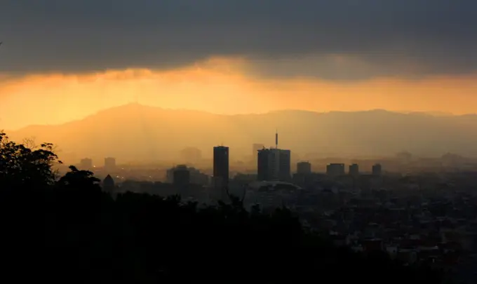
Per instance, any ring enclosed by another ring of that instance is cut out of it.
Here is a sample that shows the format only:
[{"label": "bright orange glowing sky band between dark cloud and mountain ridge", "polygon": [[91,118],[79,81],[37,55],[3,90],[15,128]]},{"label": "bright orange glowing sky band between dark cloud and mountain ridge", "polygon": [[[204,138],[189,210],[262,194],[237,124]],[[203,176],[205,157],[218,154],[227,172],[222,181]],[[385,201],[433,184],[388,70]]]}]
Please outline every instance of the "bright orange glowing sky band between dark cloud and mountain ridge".
[{"label": "bright orange glowing sky band between dark cloud and mountain ridge", "polygon": [[240,58],[212,58],[182,69],[95,74],[0,74],[0,129],[56,124],[129,102],[219,114],[311,111],[476,112],[477,74],[419,80],[257,79]]}]

